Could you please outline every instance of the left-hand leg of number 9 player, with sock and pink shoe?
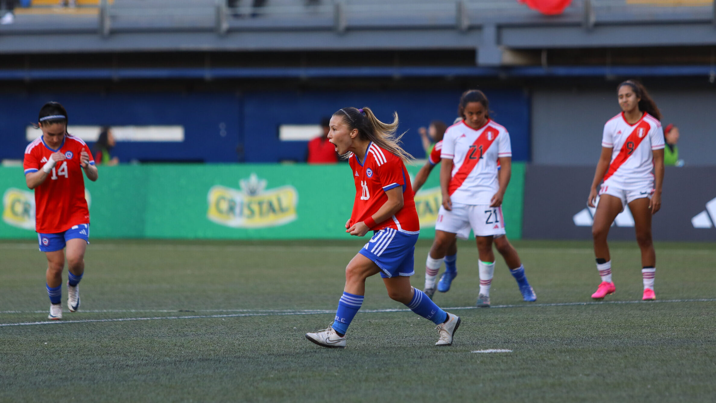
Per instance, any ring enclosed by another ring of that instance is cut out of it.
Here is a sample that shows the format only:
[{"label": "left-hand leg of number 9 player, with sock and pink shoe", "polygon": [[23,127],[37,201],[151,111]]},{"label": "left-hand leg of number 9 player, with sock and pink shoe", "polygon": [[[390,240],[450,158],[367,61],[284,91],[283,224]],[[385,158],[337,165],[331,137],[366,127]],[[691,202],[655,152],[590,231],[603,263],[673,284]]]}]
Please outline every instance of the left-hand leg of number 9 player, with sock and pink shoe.
[{"label": "left-hand leg of number 9 player, with sock and pink shoe", "polygon": [[601,299],[616,291],[614,281],[611,281],[611,258],[606,237],[609,235],[611,223],[614,223],[614,218],[619,213],[621,213],[621,200],[612,195],[601,195],[594,213],[594,223],[591,225],[596,269],[599,271],[601,283],[596,292],[591,295],[591,298]]}]

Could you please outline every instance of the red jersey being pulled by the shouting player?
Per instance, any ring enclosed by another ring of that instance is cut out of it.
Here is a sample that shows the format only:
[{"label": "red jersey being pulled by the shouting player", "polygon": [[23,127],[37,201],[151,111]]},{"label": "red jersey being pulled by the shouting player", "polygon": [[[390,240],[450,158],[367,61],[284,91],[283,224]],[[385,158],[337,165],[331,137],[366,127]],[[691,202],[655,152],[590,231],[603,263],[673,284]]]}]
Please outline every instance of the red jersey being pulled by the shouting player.
[{"label": "red jersey being pulled by the shouting player", "polygon": [[356,198],[349,224],[359,223],[377,213],[388,201],[385,191],[402,186],[403,207],[391,218],[377,223],[371,230],[395,228],[403,233],[418,233],[420,223],[415,210],[415,200],[412,198],[410,176],[407,175],[402,160],[372,142],[362,160],[363,164],[353,153],[349,157],[356,184]]}]

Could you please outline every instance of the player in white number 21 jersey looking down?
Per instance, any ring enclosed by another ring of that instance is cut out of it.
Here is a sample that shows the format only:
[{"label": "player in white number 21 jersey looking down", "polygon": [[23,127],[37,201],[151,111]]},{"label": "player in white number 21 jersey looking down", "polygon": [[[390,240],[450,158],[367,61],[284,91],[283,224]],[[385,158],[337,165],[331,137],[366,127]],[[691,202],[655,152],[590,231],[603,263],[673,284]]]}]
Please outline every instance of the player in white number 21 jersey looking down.
[{"label": "player in white number 21 jersey looking down", "polygon": [[[505,127],[490,120],[488,111],[489,102],[483,92],[466,91],[458,107],[463,120],[448,127],[442,138],[442,206],[437,213],[435,241],[425,262],[425,288],[432,286],[434,292],[437,270],[455,236],[464,236],[472,229],[480,253],[477,305],[481,307],[490,306],[495,271],[493,237],[505,235],[501,205],[512,167],[510,135]],[[523,298],[535,301],[537,297],[527,282],[517,251],[509,242],[502,245],[498,251],[518,281]]]}]

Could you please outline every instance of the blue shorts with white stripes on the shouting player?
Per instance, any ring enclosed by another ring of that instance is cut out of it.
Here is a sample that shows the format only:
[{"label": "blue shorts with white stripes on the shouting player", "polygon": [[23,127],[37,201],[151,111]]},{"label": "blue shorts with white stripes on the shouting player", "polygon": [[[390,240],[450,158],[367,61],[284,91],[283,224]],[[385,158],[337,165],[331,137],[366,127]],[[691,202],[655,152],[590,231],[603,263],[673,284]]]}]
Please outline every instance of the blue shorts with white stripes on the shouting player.
[{"label": "blue shorts with white stripes on the shouting player", "polygon": [[403,233],[384,228],[373,233],[360,254],[372,260],[381,270],[382,278],[415,274],[415,242],[417,233]]}]

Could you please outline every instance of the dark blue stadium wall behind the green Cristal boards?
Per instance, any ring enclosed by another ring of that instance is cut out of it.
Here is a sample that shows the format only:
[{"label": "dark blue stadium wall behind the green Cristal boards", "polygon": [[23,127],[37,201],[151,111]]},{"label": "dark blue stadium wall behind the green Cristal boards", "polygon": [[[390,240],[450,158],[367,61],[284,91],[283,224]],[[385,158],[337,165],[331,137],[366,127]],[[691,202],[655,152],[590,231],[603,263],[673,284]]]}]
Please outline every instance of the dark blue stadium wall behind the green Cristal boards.
[{"label": "dark blue stadium wall behind the green Cristal boards", "polygon": [[[530,159],[529,94],[521,89],[485,89],[495,121],[507,127],[513,159]],[[193,93],[0,94],[1,159],[21,159],[25,127],[49,100],[67,107],[71,125],[183,125],[185,140],[121,142],[123,161],[279,162],[302,161],[305,142],[282,142],[279,125],[317,124],[340,107],[369,106],[381,120],[400,115],[405,148],[424,157],[417,128],[430,120],[448,125],[457,115],[460,91],[313,91]]]}]

